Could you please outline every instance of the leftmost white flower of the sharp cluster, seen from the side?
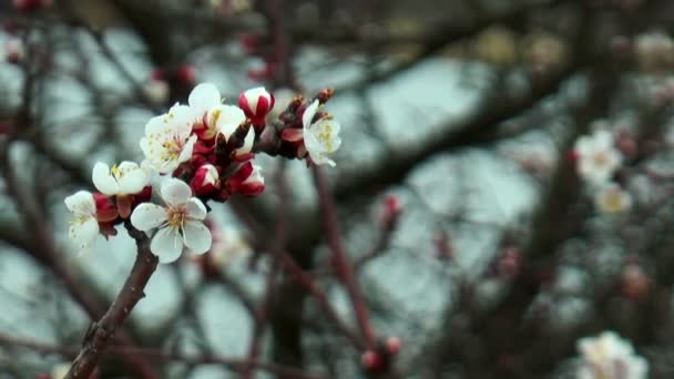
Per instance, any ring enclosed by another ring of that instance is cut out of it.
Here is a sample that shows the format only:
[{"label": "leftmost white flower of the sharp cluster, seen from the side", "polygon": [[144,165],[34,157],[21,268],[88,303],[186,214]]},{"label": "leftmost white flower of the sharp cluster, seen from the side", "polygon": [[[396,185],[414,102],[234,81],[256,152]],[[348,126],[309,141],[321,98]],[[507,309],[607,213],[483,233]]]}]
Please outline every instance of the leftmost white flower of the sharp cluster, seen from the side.
[{"label": "leftmost white flower of the sharp cluster, seen from the side", "polygon": [[74,214],[74,218],[70,221],[70,238],[78,244],[81,252],[91,249],[100,232],[93,194],[79,191],[65,197],[65,206]]}]

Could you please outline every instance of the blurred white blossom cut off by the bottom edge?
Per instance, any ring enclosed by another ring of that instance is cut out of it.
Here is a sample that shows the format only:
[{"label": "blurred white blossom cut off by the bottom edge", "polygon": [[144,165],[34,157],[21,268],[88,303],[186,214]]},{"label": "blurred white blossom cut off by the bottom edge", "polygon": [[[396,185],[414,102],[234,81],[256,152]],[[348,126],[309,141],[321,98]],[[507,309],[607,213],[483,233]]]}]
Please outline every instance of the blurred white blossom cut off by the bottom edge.
[{"label": "blurred white blossom cut off by the bottom edge", "polygon": [[578,341],[583,362],[578,379],[645,379],[647,361],[634,354],[632,344],[613,331]]}]

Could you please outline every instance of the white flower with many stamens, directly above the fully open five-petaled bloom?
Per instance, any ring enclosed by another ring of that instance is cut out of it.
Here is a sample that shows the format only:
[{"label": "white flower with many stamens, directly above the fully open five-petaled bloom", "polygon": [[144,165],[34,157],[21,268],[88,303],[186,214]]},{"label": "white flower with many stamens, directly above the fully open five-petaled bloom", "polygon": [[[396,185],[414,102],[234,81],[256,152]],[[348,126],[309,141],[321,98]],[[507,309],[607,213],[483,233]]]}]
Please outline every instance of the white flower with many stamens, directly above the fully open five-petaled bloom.
[{"label": "white flower with many stamens, directly above the fully open five-petaled bloom", "polygon": [[174,105],[168,113],[152,117],[145,125],[141,148],[147,165],[162,174],[173,172],[192,157],[196,135],[192,134],[192,111]]}]

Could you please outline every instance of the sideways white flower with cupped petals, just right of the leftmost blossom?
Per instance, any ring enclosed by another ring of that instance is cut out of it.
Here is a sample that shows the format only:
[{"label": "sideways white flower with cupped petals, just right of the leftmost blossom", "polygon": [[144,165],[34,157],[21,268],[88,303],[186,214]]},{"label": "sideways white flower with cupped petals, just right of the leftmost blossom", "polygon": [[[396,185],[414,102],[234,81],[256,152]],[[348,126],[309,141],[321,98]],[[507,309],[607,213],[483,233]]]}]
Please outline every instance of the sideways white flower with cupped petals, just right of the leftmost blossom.
[{"label": "sideways white flower with cupped petals, just right of the leftmost blossom", "polygon": [[93,166],[91,178],[96,190],[108,196],[137,194],[150,183],[147,172],[129,161],[112,168],[105,163],[98,162]]}]

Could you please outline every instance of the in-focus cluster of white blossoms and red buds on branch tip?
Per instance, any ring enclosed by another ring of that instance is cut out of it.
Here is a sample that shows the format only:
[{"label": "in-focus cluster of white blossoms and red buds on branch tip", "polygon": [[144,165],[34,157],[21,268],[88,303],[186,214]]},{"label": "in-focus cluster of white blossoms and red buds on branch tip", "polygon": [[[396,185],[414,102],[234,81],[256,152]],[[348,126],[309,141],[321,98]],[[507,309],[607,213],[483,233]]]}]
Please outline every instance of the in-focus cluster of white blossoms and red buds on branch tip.
[{"label": "in-focus cluster of white blossoms and red buds on branch tip", "polygon": [[[92,173],[98,192],[79,191],[65,198],[74,214],[71,238],[86,250],[99,234],[113,236],[115,226],[124,224],[152,236],[150,249],[161,263],[176,260],[185,248],[208,252],[213,235],[205,225],[206,203],[256,196],[265,188],[255,153],[335,165],[329,154],[341,144],[339,123],[320,111],[331,94],[324,90],[307,102],[296,96],[267,125],[275,101],[264,88],[242,93],[237,106],[225,104],[215,85],[198,84],[187,104],[177,103],[147,122],[140,165],[99,162]],[[162,178],[159,191],[153,176]]]}]

